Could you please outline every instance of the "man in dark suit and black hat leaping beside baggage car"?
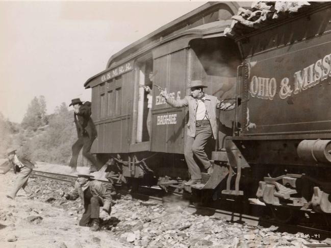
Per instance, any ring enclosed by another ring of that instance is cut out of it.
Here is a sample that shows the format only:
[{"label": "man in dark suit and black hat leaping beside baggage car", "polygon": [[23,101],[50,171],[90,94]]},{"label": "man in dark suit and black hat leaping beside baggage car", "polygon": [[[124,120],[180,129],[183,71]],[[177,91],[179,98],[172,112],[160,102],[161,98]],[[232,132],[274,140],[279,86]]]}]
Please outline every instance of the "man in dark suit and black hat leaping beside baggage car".
[{"label": "man in dark suit and black hat leaping beside baggage car", "polygon": [[77,129],[78,140],[72,145],[72,156],[69,162],[69,166],[72,168],[71,173],[76,172],[77,168],[77,159],[80,150],[83,148],[83,156],[86,157],[91,163],[91,171],[100,169],[102,164],[99,164],[98,161],[90,153],[91,146],[93,141],[97,136],[97,132],[94,126],[94,123],[91,118],[91,103],[83,102],[79,98],[71,100],[69,106],[73,106],[74,114],[73,119]]}]

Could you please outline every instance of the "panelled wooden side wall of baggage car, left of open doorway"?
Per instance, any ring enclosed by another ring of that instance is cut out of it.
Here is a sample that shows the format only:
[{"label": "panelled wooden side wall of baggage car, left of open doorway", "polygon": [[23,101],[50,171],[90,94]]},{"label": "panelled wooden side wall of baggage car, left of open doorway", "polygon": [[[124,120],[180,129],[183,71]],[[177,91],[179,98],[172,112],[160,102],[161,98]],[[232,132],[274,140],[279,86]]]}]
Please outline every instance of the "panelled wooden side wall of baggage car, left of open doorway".
[{"label": "panelled wooden side wall of baggage car, left of open doorway", "polygon": [[134,70],[92,88],[92,119],[98,137],[92,152],[128,152],[133,103]]}]

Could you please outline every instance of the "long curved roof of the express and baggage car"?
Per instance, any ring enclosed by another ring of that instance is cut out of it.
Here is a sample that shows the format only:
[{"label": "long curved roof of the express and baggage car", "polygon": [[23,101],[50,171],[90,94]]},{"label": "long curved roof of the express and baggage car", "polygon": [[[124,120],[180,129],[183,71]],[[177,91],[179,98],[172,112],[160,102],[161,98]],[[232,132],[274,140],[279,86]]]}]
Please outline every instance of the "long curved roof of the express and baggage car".
[{"label": "long curved roof of the express and baggage car", "polygon": [[[225,27],[231,24],[231,20],[213,21],[203,25],[195,26],[191,29],[188,28],[187,30],[181,31],[183,29],[183,26],[187,25],[189,21],[192,21],[199,16],[203,16],[204,14],[208,14],[213,10],[221,9],[220,8],[221,5],[226,5],[227,8],[230,9],[230,11],[233,14],[236,13],[240,7],[236,2],[208,2],[200,6],[199,8],[192,10],[191,12],[163,25],[156,31],[144,36],[138,41],[132,43],[129,46],[126,46],[125,48],[115,53],[109,59],[106,70],[101,71],[100,73],[89,78],[85,82],[84,87],[89,88],[89,82],[93,80],[95,77],[100,76],[101,74],[107,71],[110,71],[116,66],[119,66],[120,64],[123,63],[123,60],[127,60],[129,57],[130,58],[135,57],[139,51],[145,50],[144,48],[146,47],[147,47],[146,50],[148,50],[162,43],[165,43],[171,39],[177,38],[181,35],[186,35],[188,33],[200,34],[202,36],[207,33],[211,35],[216,32],[223,33]],[[176,32],[179,30],[180,32]]]}]

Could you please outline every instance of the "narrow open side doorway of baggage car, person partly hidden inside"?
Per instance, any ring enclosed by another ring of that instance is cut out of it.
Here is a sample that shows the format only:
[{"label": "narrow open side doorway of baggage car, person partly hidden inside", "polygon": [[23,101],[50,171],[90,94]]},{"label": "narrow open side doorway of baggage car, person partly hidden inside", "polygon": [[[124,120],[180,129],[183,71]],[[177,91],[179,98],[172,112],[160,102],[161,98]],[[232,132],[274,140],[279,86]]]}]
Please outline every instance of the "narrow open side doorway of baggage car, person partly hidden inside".
[{"label": "narrow open side doorway of baggage car, person partly hidden inside", "polygon": [[148,142],[151,134],[150,111],[152,104],[153,60],[144,57],[138,65],[138,106],[136,143]]}]

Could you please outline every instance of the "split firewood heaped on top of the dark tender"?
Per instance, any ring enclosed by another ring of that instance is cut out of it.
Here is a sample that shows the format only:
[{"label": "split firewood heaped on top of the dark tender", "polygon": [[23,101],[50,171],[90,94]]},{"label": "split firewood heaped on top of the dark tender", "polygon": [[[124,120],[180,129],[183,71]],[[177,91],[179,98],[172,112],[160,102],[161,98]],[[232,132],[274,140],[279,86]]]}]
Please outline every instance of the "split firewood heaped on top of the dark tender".
[{"label": "split firewood heaped on top of the dark tender", "polygon": [[300,13],[312,11],[325,2],[256,2],[250,9],[239,8],[234,15],[231,27],[224,31],[225,36],[240,38],[254,31],[295,17]]}]

